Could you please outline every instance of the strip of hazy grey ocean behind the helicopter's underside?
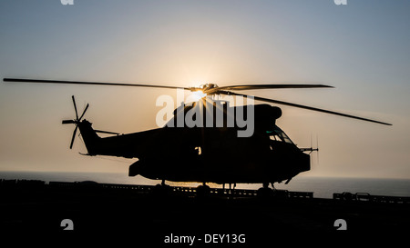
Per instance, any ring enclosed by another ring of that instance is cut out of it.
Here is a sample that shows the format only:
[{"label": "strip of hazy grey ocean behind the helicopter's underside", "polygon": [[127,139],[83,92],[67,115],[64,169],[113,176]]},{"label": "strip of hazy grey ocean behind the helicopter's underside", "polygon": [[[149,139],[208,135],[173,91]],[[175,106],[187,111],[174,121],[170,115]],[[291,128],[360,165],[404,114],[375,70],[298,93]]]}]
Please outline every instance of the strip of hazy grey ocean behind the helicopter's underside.
[{"label": "strip of hazy grey ocean behind the helicopter's underside", "polygon": [[[111,173],[61,173],[61,172],[0,172],[0,179],[26,179],[49,182],[94,181],[100,184],[160,184],[159,180],[149,180],[141,176]],[[196,187],[195,183],[166,182],[172,186]],[[209,184],[221,188],[220,184]],[[274,184],[276,189],[298,192],[313,192],[313,197],[333,198],[333,193],[370,193],[372,195],[409,196],[410,180],[383,178],[341,178],[296,176],[289,184]],[[228,187],[228,185],[226,185]],[[258,189],[261,184],[237,184],[237,189]]]}]

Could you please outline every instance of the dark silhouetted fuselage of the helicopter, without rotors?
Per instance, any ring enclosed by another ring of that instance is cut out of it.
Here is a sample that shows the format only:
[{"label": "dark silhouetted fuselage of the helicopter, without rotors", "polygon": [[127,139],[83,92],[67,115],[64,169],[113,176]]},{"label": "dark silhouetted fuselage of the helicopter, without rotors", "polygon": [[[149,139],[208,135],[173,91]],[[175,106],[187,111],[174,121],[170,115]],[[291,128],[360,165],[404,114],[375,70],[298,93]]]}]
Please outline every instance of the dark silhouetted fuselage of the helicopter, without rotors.
[{"label": "dark silhouetted fuselage of the helicopter, without rotors", "polygon": [[[196,106],[176,110],[165,127],[149,131],[101,138],[86,120],[78,124],[90,155],[111,155],[138,158],[129,167],[129,175],[140,174],[149,179],[175,182],[216,184],[275,183],[290,180],[310,170],[308,154],[292,143],[275,124],[282,114],[268,104],[253,106],[254,127],[249,137],[238,137],[243,129],[227,126],[177,126],[179,114],[187,114]],[[228,113],[246,111],[244,107],[226,106]],[[206,120],[203,120],[204,122]],[[174,124],[174,125],[172,125]],[[172,127],[170,127],[172,126]]]}]

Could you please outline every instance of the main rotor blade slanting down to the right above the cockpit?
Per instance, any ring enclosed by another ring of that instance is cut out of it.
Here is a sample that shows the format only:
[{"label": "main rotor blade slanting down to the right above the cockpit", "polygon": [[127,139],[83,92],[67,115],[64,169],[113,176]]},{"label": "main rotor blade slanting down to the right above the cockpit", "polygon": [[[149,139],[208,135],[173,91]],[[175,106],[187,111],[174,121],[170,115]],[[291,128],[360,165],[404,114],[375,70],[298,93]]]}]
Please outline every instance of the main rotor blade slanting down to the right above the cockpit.
[{"label": "main rotor blade slanting down to the right above the cockpit", "polygon": [[249,95],[249,94],[236,94],[236,93],[232,93],[232,92],[229,92],[229,91],[220,92],[220,94],[233,94],[233,95],[241,95],[241,96],[246,96],[246,97],[250,97],[250,96],[251,96],[251,97],[253,97],[255,100],[263,101],[263,102],[268,102],[268,103],[272,103],[272,104],[288,105],[288,106],[292,106],[292,107],[308,109],[308,110],[317,111],[317,112],[322,112],[322,113],[326,113],[326,114],[340,115],[340,116],[343,116],[343,117],[358,119],[358,120],[362,120],[362,121],[366,121],[366,122],[371,122],[371,123],[376,123],[376,124],[392,125],[392,124],[387,124],[387,123],[383,123],[383,122],[379,122],[379,121],[375,121],[375,120],[371,120],[371,119],[367,119],[367,118],[363,118],[363,117],[359,117],[359,116],[354,116],[354,115],[350,115],[350,114],[338,113],[338,112],[334,112],[334,111],[330,111],[330,110],[325,110],[325,109],[320,109],[320,108],[316,108],[316,107],[310,107],[310,106],[306,106],[306,105],[302,105],[302,104],[292,104],[292,103],[287,103],[287,102],[278,101],[278,100],[274,100],[274,99],[263,98],[263,97],[259,97],[259,96],[253,96],[253,95]]}]

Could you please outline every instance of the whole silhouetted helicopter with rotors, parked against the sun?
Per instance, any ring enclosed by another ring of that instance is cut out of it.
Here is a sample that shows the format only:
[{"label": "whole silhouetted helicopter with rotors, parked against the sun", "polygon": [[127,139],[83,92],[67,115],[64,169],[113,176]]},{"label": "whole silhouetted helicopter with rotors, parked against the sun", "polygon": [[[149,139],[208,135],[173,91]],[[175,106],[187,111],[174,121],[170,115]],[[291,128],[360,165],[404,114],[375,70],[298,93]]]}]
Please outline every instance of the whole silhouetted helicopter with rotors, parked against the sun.
[{"label": "whole silhouetted helicopter with rotors, parked against the sun", "polygon": [[[313,151],[319,151],[319,149],[299,148],[294,144],[291,138],[276,124],[276,120],[282,116],[282,109],[271,104],[287,105],[375,124],[391,125],[351,114],[232,92],[257,89],[333,88],[333,86],[324,84],[229,86],[202,84],[199,87],[177,87],[24,78],[4,78],[3,81],[8,83],[153,87],[206,94],[198,102],[182,103],[174,110],[172,118],[165,126],[132,134],[118,134],[94,129],[89,121],[83,119],[89,104],[82,114],[78,114],[76,100],[74,95],[72,96],[76,117],[73,120],[62,121],[62,124],[75,124],[70,149],[73,147],[79,129],[87,148],[87,155],[138,158],[137,162],[130,164],[128,176],[139,174],[152,180],[161,180],[162,185],[165,185],[165,181],[201,183],[199,188],[209,188],[207,183],[230,184],[230,186],[231,184],[262,184],[261,189],[268,190],[270,189],[269,184],[272,184],[272,187],[274,183],[282,183],[283,181],[288,184],[294,176],[309,171],[311,169],[310,154]],[[230,102],[216,100],[213,97],[215,95],[246,97],[269,104],[247,103],[242,106],[230,106]],[[195,121],[200,119],[200,124],[188,126],[184,123],[183,120],[186,119],[187,114],[193,116]],[[223,117],[219,123],[218,118],[212,118],[218,114]],[[230,124],[231,114],[241,114],[242,117],[251,119],[251,135],[245,137],[238,135],[240,131],[243,131],[244,126],[238,123],[232,124],[232,122]],[[98,133],[111,135],[100,137]],[[306,152],[309,153],[306,154]]]}]

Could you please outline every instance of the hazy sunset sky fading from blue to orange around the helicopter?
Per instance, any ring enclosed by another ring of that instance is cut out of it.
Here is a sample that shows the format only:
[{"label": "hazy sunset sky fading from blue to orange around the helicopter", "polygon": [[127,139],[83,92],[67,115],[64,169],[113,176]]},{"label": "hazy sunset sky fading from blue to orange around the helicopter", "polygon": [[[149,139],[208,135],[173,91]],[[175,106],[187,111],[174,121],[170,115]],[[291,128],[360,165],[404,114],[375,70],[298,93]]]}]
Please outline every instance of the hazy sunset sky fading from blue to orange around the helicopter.
[{"label": "hazy sunset sky fading from blue to orange around the helicopter", "polygon": [[[252,90],[392,126],[281,106],[295,144],[318,140],[305,175],[410,178],[410,1],[59,0],[0,2],[0,77],[194,86],[328,84]],[[242,93],[242,92],[241,92]],[[136,159],[88,157],[61,120],[90,104],[96,129],[157,128],[175,91],[0,83],[0,171],[128,174]]]}]

